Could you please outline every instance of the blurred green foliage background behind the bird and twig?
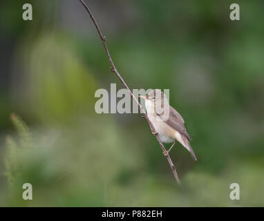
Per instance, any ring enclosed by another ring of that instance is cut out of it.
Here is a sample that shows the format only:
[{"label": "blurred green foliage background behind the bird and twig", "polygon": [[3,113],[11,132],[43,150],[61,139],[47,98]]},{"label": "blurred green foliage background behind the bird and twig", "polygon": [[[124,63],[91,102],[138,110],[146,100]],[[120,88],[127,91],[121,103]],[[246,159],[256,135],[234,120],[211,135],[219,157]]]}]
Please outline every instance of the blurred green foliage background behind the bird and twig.
[{"label": "blurred green foliage background behind the bird and twig", "polygon": [[227,0],[86,2],[127,84],[170,89],[198,161],[173,148],[179,187],[140,114],[95,113],[123,86],[79,1],[1,1],[0,205],[264,206],[263,1],[234,2],[241,21]]}]

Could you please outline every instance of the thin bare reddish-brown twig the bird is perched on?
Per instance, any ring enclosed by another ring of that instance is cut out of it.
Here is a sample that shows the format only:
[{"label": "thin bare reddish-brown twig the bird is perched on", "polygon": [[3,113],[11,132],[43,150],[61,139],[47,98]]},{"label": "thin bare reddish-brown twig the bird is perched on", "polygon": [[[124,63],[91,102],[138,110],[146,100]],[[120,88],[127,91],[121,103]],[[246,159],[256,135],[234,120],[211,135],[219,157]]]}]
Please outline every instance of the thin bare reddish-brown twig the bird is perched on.
[{"label": "thin bare reddish-brown twig the bird is perched on", "polygon": [[176,172],[176,168],[173,164],[173,162],[171,161],[171,157],[169,156],[169,154],[165,154],[166,153],[166,148],[164,147],[164,145],[162,144],[161,140],[160,140],[160,137],[158,136],[158,133],[155,133],[155,128],[153,127],[153,124],[150,122],[149,120],[149,117],[147,116],[147,113],[144,111],[144,108],[142,108],[141,104],[138,102],[138,99],[135,98],[135,96],[133,95],[132,91],[130,90],[129,86],[127,86],[126,82],[124,81],[124,79],[121,77],[120,73],[117,71],[117,69],[115,68],[115,64],[113,64],[113,60],[110,56],[110,53],[109,53],[109,49],[107,48],[106,46],[106,37],[104,37],[102,35],[102,32],[99,28],[99,26],[97,25],[97,22],[95,21],[95,18],[93,17],[93,14],[91,12],[91,10],[88,8],[88,6],[86,6],[86,4],[84,3],[83,0],[79,0],[82,5],[84,6],[84,8],[86,8],[88,14],[90,15],[94,25],[95,25],[95,28],[98,32],[98,34],[100,35],[100,39],[102,41],[102,44],[104,46],[104,50],[106,51],[106,55],[107,55],[107,58],[109,59],[109,62],[111,64],[111,70],[113,73],[115,73],[115,75],[118,77],[118,79],[120,79],[120,81],[122,82],[122,84],[124,85],[124,87],[129,90],[129,93],[131,95],[131,97],[133,98],[133,100],[135,101],[136,104],[138,104],[138,107],[140,108],[140,110],[142,111],[143,115],[144,115],[144,118],[147,119],[147,122],[151,128],[151,131],[152,133],[155,135],[156,139],[158,140],[158,143],[160,144],[160,147],[162,148],[162,151],[164,153],[164,156],[167,157],[167,160],[169,162],[169,165],[171,166],[171,170],[173,172],[173,175],[176,179],[176,181],[178,182],[178,184],[180,184],[180,179],[178,177],[178,174]]}]

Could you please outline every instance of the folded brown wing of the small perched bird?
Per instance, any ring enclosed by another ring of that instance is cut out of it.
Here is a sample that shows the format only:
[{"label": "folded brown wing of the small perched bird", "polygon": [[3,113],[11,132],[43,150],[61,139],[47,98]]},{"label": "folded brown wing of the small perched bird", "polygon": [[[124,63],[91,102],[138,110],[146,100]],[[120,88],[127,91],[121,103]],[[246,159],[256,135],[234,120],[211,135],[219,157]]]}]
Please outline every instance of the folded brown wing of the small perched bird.
[{"label": "folded brown wing of the small perched bird", "polygon": [[[161,115],[159,116],[162,119],[162,116]],[[164,122],[169,126],[171,126],[173,129],[175,129],[176,131],[178,131],[178,133],[180,133],[181,135],[187,137],[188,140],[191,140],[191,137],[187,133],[184,125],[185,120],[172,106],[169,106],[169,119],[164,120]]]}]

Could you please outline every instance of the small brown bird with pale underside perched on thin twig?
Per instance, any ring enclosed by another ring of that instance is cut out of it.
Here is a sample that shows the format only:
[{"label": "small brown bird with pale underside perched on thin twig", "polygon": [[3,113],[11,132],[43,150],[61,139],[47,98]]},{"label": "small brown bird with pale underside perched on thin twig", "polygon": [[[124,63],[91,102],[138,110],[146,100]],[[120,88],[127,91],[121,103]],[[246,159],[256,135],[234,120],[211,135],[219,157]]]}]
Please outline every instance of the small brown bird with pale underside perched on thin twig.
[{"label": "small brown bird with pale underside perched on thin twig", "polygon": [[196,155],[191,148],[191,136],[185,128],[185,120],[180,113],[169,105],[168,99],[159,89],[154,89],[146,96],[139,96],[145,99],[145,107],[147,116],[155,131],[158,133],[162,143],[173,143],[164,155],[168,155],[176,142],[180,142],[190,153],[194,160],[197,160]]}]

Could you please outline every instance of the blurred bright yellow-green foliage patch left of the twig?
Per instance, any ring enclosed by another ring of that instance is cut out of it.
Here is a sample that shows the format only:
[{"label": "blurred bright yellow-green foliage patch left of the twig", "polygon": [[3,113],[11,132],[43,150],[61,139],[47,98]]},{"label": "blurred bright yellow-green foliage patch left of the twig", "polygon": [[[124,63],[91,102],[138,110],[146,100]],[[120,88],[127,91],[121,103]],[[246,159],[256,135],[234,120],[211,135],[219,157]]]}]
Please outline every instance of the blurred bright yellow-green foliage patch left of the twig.
[{"label": "blurred bright yellow-green foliage patch left of the twig", "polygon": [[32,117],[49,124],[93,111],[97,82],[67,37],[47,33],[24,47],[19,55],[27,73],[23,111],[29,109]]}]

